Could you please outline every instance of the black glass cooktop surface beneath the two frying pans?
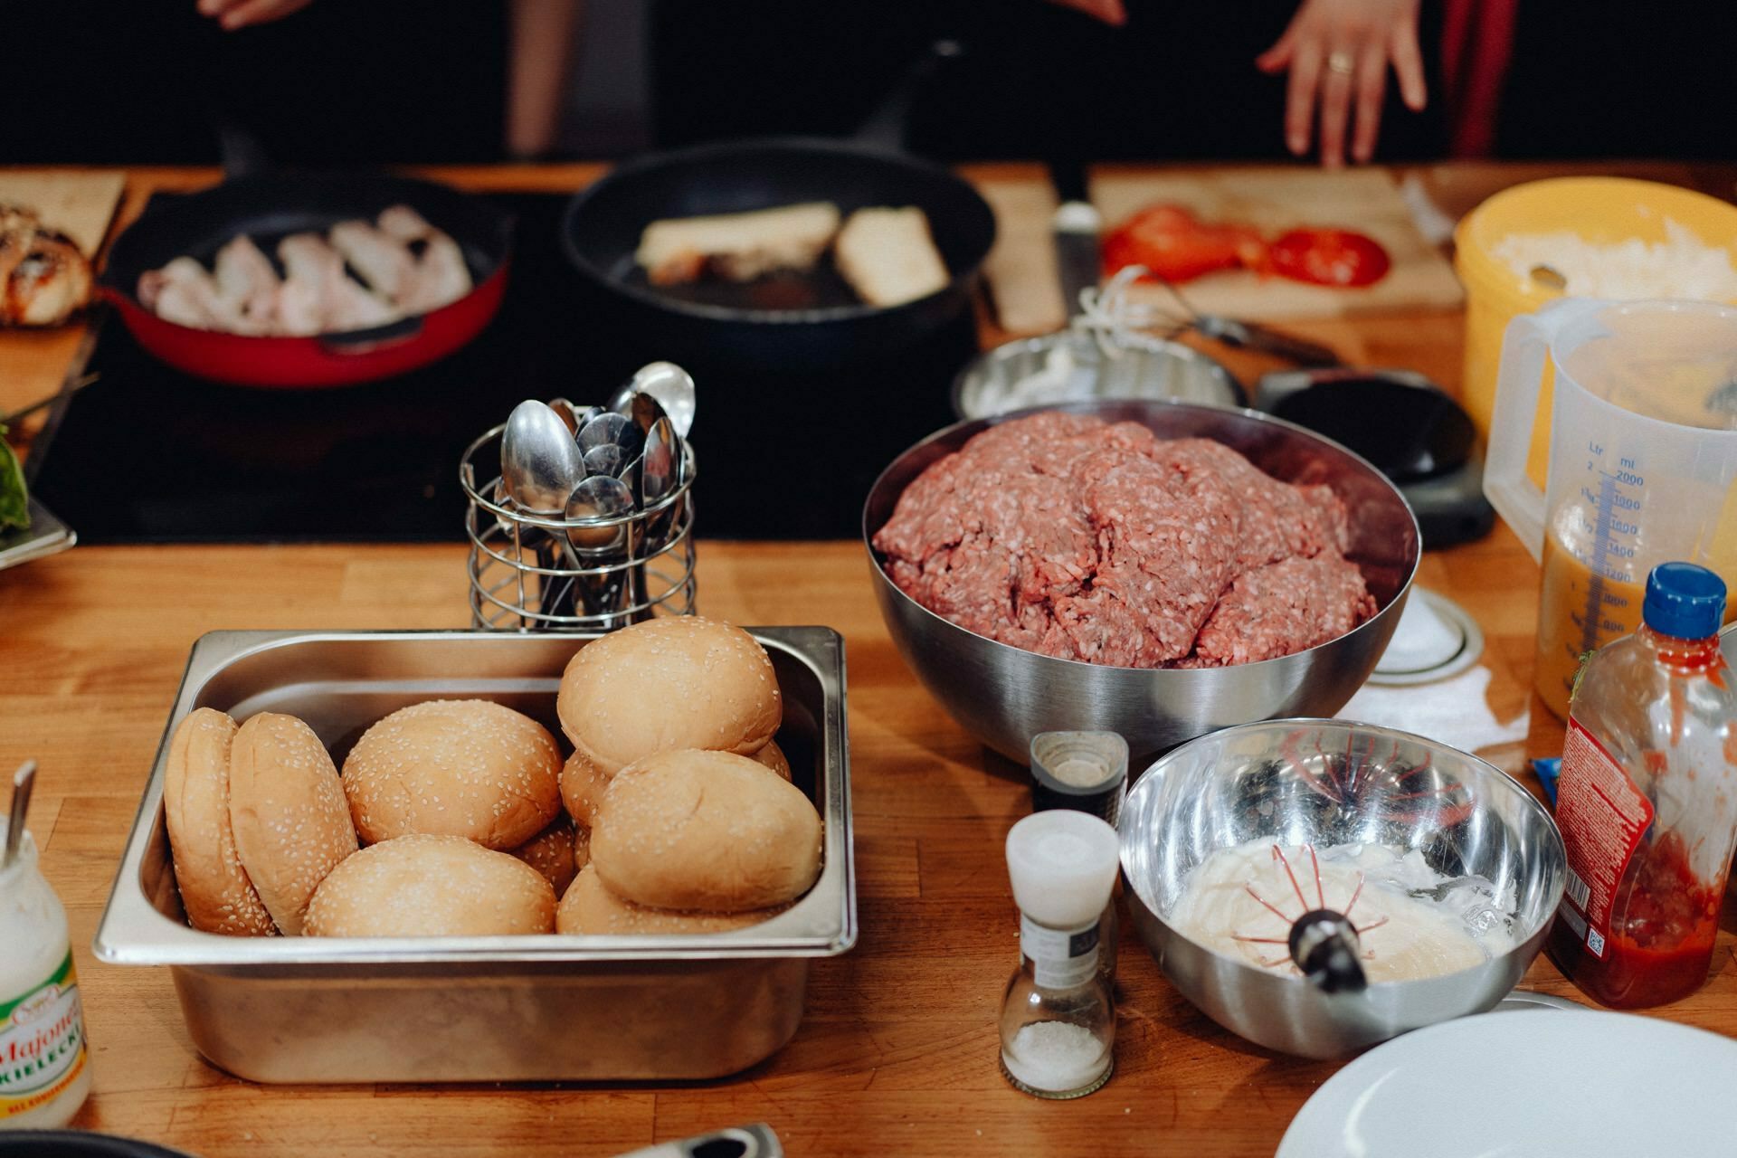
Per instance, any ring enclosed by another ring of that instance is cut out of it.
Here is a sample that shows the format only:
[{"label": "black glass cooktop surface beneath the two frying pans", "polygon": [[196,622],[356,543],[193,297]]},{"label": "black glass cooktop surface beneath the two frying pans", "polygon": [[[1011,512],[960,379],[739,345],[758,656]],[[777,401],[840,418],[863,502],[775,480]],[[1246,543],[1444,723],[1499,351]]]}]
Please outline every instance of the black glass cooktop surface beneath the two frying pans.
[{"label": "black glass cooktop surface beneath the two frying pans", "polygon": [[[526,398],[601,403],[667,351],[613,330],[561,257],[566,196],[502,194],[518,217],[500,314],[413,373],[334,391],[215,385],[146,354],[106,318],[89,370],[31,453],[33,493],[87,543],[464,538],[459,457]],[[969,316],[830,373],[688,361],[702,538],[855,538],[870,483],[952,422],[976,352]]]}]

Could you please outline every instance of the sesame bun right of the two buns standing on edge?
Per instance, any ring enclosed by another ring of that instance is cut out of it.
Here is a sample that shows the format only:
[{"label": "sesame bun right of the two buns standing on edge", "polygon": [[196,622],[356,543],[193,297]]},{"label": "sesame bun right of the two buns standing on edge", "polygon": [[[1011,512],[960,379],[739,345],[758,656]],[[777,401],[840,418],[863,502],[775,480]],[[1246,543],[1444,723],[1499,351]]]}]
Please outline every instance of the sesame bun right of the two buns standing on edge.
[{"label": "sesame bun right of the two buns standing on edge", "polygon": [[361,734],[344,793],[368,844],[413,832],[516,849],[561,811],[561,752],[528,715],[488,700],[431,700]]}]

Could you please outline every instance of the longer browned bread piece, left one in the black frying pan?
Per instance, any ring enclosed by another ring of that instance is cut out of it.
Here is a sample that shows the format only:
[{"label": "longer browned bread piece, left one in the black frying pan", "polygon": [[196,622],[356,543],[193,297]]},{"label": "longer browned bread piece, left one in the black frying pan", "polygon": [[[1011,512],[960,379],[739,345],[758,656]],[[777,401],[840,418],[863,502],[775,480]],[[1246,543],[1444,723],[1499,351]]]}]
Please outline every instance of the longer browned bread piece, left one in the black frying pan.
[{"label": "longer browned bread piece, left one in the black frying pan", "polygon": [[750,281],[778,269],[813,269],[839,231],[839,207],[808,201],[712,217],[653,220],[634,260],[651,285],[698,281],[707,273]]}]

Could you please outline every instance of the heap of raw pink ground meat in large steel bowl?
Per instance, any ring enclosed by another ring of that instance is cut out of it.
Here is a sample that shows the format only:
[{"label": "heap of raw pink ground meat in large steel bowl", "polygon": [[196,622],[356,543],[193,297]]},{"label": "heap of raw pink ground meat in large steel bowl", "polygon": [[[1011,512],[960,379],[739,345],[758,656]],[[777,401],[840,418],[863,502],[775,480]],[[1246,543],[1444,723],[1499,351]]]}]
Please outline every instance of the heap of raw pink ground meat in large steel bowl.
[{"label": "heap of raw pink ground meat in large steel bowl", "polygon": [[1376,611],[1344,503],[1209,439],[1046,411],[905,488],[888,575],[966,630],[1065,660],[1219,667],[1291,655]]}]

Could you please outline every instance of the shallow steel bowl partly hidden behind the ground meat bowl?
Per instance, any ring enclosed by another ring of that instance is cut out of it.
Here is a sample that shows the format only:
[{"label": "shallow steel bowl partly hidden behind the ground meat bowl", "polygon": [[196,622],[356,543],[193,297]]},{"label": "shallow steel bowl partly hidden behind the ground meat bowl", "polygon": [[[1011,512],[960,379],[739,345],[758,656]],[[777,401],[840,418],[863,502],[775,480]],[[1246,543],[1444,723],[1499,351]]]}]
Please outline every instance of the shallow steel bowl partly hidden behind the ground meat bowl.
[{"label": "shallow steel bowl partly hidden behind the ground meat bowl", "polygon": [[1237,378],[1200,351],[1145,333],[1112,339],[1115,356],[1080,330],[997,345],[954,378],[954,413],[992,418],[1011,410],[1098,399],[1174,399],[1245,406]]}]

